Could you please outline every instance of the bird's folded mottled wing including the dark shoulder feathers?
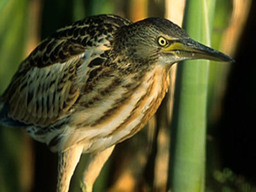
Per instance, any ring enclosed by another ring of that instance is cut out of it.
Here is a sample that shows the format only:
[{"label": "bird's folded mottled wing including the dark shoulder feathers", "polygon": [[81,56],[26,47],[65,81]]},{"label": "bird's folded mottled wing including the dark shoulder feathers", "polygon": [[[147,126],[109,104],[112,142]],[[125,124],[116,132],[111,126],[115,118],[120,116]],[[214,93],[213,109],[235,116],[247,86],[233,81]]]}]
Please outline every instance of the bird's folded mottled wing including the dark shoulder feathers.
[{"label": "bird's folded mottled wing including the dark shoulder feathers", "polygon": [[3,93],[0,122],[47,127],[72,113],[81,89],[76,84],[77,70],[86,62],[86,51],[99,55],[109,49],[112,32],[127,24],[128,20],[113,15],[89,17],[42,41]]}]

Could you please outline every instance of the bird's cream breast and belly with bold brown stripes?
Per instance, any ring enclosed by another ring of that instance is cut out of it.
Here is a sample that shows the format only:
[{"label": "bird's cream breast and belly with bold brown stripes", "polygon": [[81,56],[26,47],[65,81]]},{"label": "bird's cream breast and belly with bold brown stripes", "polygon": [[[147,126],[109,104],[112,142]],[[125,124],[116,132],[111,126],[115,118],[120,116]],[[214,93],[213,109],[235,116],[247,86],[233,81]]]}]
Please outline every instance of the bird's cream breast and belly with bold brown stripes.
[{"label": "bird's cream breast and belly with bold brown stripes", "polygon": [[168,68],[160,65],[141,76],[133,74],[122,81],[111,77],[98,82],[97,91],[81,102],[80,108],[86,108],[74,114],[72,124],[77,128],[69,145],[80,141],[88,147],[84,148],[86,152],[92,152],[130,138],[156,113],[169,83]]}]

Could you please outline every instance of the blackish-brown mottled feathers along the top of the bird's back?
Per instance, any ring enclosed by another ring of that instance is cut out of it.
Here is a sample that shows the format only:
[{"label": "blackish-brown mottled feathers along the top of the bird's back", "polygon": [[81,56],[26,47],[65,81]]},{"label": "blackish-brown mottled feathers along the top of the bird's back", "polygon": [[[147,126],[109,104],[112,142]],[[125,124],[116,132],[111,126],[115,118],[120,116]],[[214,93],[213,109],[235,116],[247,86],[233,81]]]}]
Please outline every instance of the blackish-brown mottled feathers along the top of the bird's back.
[{"label": "blackish-brown mottled feathers along the top of the bird's back", "polygon": [[29,55],[29,64],[45,67],[63,63],[70,57],[81,54],[84,49],[95,46],[95,42],[100,42],[100,39],[109,38],[109,35],[120,26],[129,24],[129,20],[114,15],[98,15],[79,20],[58,29],[42,41]]}]

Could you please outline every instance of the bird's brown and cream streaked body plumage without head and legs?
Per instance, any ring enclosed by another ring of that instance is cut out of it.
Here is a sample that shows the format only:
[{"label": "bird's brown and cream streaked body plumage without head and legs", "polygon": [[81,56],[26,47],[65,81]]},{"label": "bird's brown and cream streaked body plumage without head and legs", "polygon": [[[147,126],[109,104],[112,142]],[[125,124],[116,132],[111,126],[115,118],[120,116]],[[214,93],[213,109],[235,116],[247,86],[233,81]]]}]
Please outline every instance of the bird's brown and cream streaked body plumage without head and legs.
[{"label": "bird's brown and cream streaked body plumage without head and legs", "polygon": [[2,96],[6,116],[53,151],[80,144],[84,152],[104,150],[136,134],[163,100],[170,66],[157,64],[156,52],[143,58],[147,51],[135,42],[127,49],[134,32],[120,38],[127,29],[118,29],[131,24],[89,17],[43,40]]}]

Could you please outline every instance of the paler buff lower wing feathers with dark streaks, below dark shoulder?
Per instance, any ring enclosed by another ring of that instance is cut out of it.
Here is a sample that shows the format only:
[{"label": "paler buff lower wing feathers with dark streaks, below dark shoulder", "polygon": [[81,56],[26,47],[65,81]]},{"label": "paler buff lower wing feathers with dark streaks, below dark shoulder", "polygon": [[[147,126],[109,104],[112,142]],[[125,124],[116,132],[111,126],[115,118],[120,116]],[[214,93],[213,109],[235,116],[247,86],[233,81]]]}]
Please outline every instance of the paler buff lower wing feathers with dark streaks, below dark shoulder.
[{"label": "paler buff lower wing feathers with dark streaks, below dark shoulder", "polygon": [[13,79],[15,84],[5,93],[8,116],[25,124],[46,127],[67,115],[79,96],[74,77],[82,63],[83,58],[76,56],[66,63],[33,67],[24,76]]}]

